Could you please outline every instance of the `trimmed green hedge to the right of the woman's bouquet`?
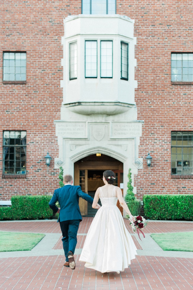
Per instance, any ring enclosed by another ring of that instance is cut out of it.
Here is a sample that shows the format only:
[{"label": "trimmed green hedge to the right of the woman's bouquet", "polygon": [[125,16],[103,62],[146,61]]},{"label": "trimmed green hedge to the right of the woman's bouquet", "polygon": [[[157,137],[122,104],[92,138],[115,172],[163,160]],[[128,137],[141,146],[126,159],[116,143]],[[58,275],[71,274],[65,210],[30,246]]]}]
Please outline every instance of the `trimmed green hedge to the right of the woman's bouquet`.
[{"label": "trimmed green hedge to the right of the woman's bouquet", "polygon": [[146,194],[143,203],[150,220],[193,220],[193,194]]}]

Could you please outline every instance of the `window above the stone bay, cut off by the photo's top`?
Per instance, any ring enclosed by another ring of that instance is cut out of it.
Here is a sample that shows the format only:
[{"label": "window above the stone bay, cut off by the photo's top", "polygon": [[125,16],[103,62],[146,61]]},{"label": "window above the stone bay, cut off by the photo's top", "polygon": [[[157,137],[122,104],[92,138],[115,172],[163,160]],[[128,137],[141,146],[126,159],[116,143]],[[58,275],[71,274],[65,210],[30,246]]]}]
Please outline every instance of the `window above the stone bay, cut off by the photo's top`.
[{"label": "window above the stone bay, cut off by the photo's top", "polygon": [[116,0],[82,0],[82,14],[116,14]]}]

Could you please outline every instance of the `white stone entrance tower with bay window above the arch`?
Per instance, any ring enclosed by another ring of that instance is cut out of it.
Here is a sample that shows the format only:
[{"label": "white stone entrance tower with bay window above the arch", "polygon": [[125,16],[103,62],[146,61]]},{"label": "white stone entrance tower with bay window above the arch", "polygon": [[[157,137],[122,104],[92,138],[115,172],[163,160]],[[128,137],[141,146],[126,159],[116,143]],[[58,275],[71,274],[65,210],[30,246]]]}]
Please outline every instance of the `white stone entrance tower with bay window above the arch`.
[{"label": "white stone entrance tower with bay window above the arch", "polygon": [[[103,153],[123,162],[127,173],[138,158],[142,121],[135,104],[134,21],[120,15],[78,15],[64,20],[63,103],[55,121],[59,156],[55,165],[74,174],[74,163]],[[93,165],[94,166],[94,165]]]}]

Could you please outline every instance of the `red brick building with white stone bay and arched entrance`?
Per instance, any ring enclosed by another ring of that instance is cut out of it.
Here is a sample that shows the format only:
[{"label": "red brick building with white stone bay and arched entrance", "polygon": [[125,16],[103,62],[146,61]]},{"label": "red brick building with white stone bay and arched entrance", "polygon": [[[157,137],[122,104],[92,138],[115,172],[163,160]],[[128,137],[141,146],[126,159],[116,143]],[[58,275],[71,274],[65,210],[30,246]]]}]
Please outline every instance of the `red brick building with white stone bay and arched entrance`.
[{"label": "red brick building with white stone bay and arched entrance", "polygon": [[1,1],[0,199],[52,194],[60,166],[91,195],[105,169],[125,194],[129,168],[140,199],[192,193],[192,14],[184,0]]}]

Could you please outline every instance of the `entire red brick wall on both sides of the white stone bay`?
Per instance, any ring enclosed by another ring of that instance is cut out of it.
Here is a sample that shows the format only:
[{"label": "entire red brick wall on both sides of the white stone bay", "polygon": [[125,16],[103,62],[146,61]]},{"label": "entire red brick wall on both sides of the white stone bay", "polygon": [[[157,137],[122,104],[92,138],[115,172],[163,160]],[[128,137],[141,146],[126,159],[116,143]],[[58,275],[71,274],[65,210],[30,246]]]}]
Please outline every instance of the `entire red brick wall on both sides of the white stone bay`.
[{"label": "entire red brick wall on both sides of the white stone bay", "polygon": [[[60,119],[63,78],[63,18],[81,13],[81,1],[0,1],[0,94],[2,130],[27,130],[27,178],[0,179],[0,199],[15,194],[52,193],[58,187],[54,120]],[[171,85],[170,53],[192,52],[189,1],[117,0],[117,14],[135,19],[135,101],[144,120],[135,176],[137,195],[192,193],[192,179],[171,179],[170,132],[192,131],[192,85]],[[27,51],[27,83],[2,83],[3,51]],[[53,158],[48,168],[44,156]],[[145,157],[150,152],[150,171]],[[0,150],[0,174],[2,149]]]}]

